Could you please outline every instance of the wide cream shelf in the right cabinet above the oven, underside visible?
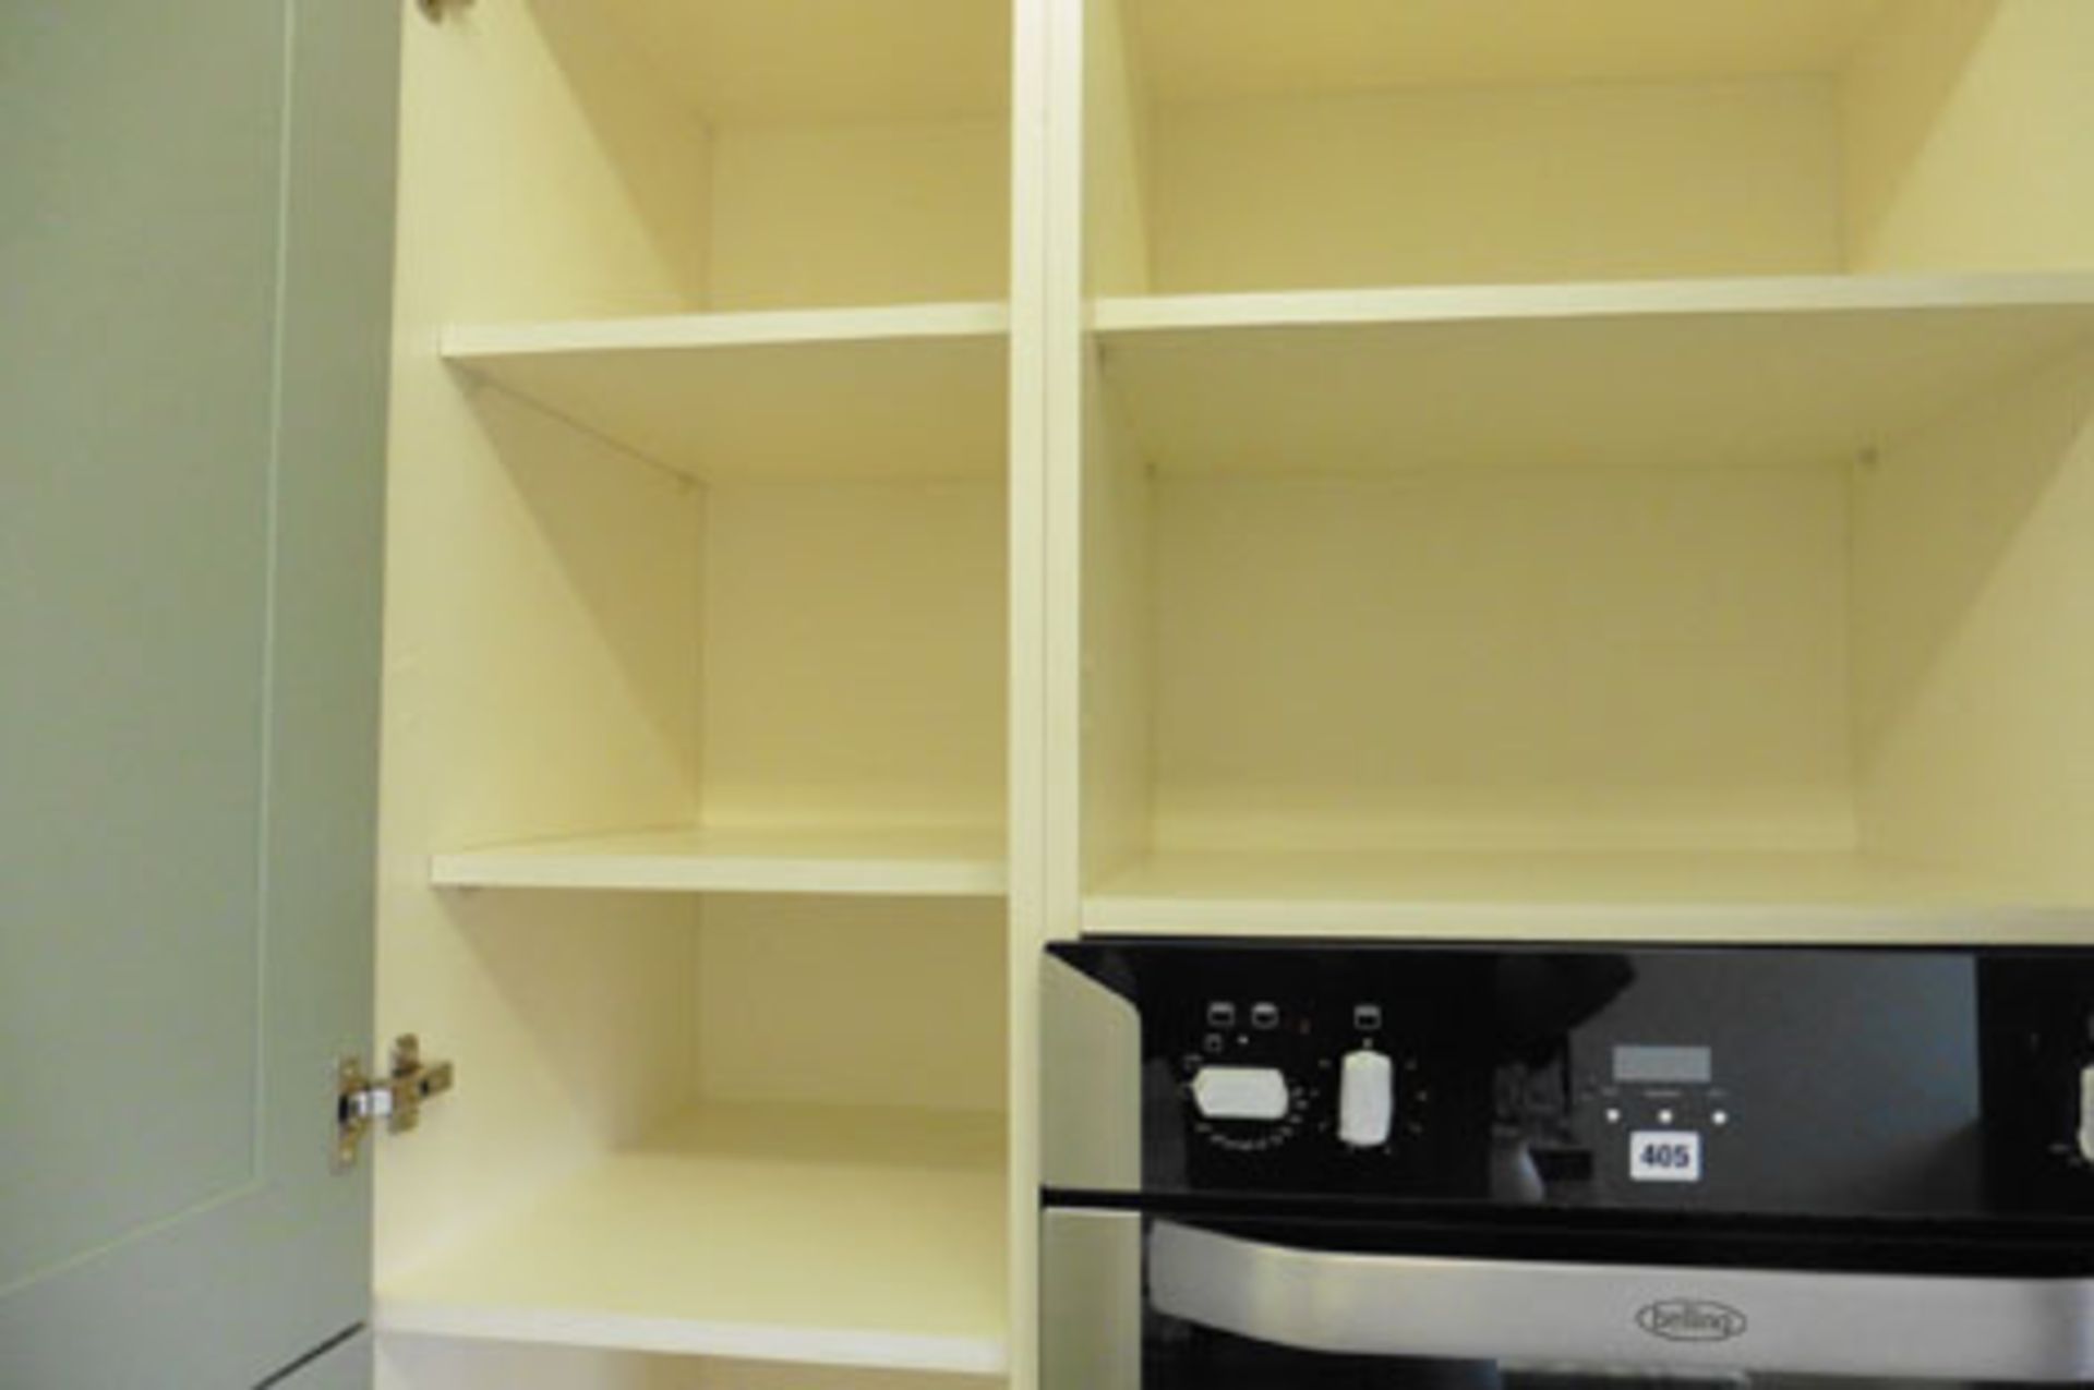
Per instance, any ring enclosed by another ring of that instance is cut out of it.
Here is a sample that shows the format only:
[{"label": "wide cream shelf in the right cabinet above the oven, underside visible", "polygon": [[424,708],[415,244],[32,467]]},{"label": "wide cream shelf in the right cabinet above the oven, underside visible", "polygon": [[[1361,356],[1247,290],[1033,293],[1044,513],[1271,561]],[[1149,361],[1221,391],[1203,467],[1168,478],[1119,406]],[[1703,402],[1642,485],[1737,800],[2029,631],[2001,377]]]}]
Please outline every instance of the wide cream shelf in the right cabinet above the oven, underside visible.
[{"label": "wide cream shelf in the right cabinet above the oven, underside visible", "polygon": [[1099,299],[1160,471],[1853,458],[2094,341],[2094,274]]}]

